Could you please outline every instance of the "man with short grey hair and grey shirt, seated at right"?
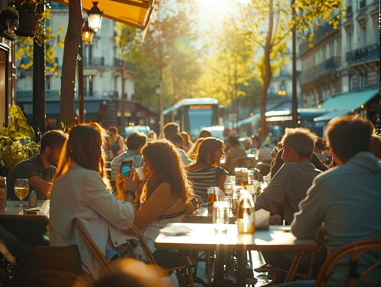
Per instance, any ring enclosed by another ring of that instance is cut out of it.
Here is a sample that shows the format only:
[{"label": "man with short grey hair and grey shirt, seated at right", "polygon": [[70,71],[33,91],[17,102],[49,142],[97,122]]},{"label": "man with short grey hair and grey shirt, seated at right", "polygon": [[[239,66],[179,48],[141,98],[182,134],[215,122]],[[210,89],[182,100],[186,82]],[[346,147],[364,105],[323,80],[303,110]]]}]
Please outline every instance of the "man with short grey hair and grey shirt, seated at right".
[{"label": "man with short grey hair and grey shirt, seated at right", "polygon": [[[286,128],[281,141],[282,159],[285,164],[274,175],[263,193],[255,198],[255,210],[261,208],[271,210],[277,204],[282,204],[288,223],[291,223],[294,213],[299,211],[299,202],[306,197],[315,176],[321,173],[310,162],[317,139],[318,136],[307,128]],[[295,255],[283,256],[280,252],[262,252],[262,254],[267,263],[282,269],[290,267]],[[302,265],[309,263],[307,258],[306,256],[303,258],[306,262],[301,262]]]}]

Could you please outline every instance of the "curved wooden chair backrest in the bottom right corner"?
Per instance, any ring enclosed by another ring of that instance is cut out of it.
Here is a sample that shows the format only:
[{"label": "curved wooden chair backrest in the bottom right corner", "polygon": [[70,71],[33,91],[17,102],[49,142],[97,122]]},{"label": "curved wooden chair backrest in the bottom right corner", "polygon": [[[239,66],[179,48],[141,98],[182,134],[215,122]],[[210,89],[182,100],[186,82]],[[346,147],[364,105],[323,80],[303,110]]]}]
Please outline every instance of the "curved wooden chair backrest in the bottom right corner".
[{"label": "curved wooden chair backrest in the bottom right corner", "polygon": [[[373,264],[372,266],[369,266],[369,268],[366,271],[363,271],[361,274],[357,270],[358,263],[360,260],[360,257],[370,251],[380,251],[381,250],[381,237],[372,238],[372,239],[364,239],[359,241],[354,241],[351,243],[348,243],[339,249],[335,250],[324,262],[322,268],[319,271],[319,274],[316,277],[316,282],[314,284],[314,287],[324,287],[325,284],[327,284],[328,277],[332,273],[333,268],[335,265],[343,259],[343,257],[351,256],[351,261],[349,263],[348,267],[348,274],[349,274],[349,283],[348,287],[354,287],[356,285],[356,281],[360,280],[364,285],[368,286],[374,286],[372,285],[372,282],[367,282],[367,280],[364,278],[364,275],[366,275],[369,271],[374,269],[376,266],[380,265],[381,263],[381,255],[379,253],[379,260]],[[379,275],[379,274],[378,274]],[[376,286],[380,286],[381,284],[381,277],[378,276],[379,282],[377,282]]]}]

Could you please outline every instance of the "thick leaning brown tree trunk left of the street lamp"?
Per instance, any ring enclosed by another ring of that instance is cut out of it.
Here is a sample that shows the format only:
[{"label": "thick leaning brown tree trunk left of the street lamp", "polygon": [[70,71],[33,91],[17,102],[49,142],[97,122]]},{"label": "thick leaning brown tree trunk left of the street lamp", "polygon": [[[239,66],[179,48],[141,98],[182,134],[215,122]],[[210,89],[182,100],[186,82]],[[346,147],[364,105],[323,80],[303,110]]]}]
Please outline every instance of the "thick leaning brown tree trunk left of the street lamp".
[{"label": "thick leaning brown tree trunk left of the street lamp", "polygon": [[67,127],[74,123],[75,64],[82,33],[81,0],[69,1],[69,23],[65,37],[61,74],[59,120]]}]

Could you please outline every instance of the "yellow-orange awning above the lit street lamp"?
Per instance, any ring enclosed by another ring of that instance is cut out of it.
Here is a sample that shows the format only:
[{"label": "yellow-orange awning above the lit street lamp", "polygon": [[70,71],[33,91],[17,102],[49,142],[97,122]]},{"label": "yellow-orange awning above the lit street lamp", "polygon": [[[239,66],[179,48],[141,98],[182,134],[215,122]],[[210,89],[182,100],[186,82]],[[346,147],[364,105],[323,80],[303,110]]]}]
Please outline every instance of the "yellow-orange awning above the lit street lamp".
[{"label": "yellow-orange awning above the lit street lamp", "polygon": [[[149,23],[155,0],[97,0],[103,17],[144,30]],[[69,5],[69,0],[53,0]],[[93,0],[82,0],[82,9],[89,11]]]}]

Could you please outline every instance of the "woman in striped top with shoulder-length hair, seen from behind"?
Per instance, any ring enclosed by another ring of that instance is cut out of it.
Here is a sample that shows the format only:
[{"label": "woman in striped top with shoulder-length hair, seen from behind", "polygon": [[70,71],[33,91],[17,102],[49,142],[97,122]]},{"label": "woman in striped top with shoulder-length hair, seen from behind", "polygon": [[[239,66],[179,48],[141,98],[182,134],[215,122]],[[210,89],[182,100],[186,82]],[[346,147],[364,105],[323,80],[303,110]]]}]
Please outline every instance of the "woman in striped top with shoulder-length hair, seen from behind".
[{"label": "woman in striped top with shoulder-length hair, seen from behind", "polygon": [[201,196],[204,202],[208,201],[207,188],[219,186],[223,189],[227,172],[218,164],[225,154],[224,143],[216,138],[204,138],[197,152],[197,160],[187,166],[189,179],[193,182],[193,190]]}]

